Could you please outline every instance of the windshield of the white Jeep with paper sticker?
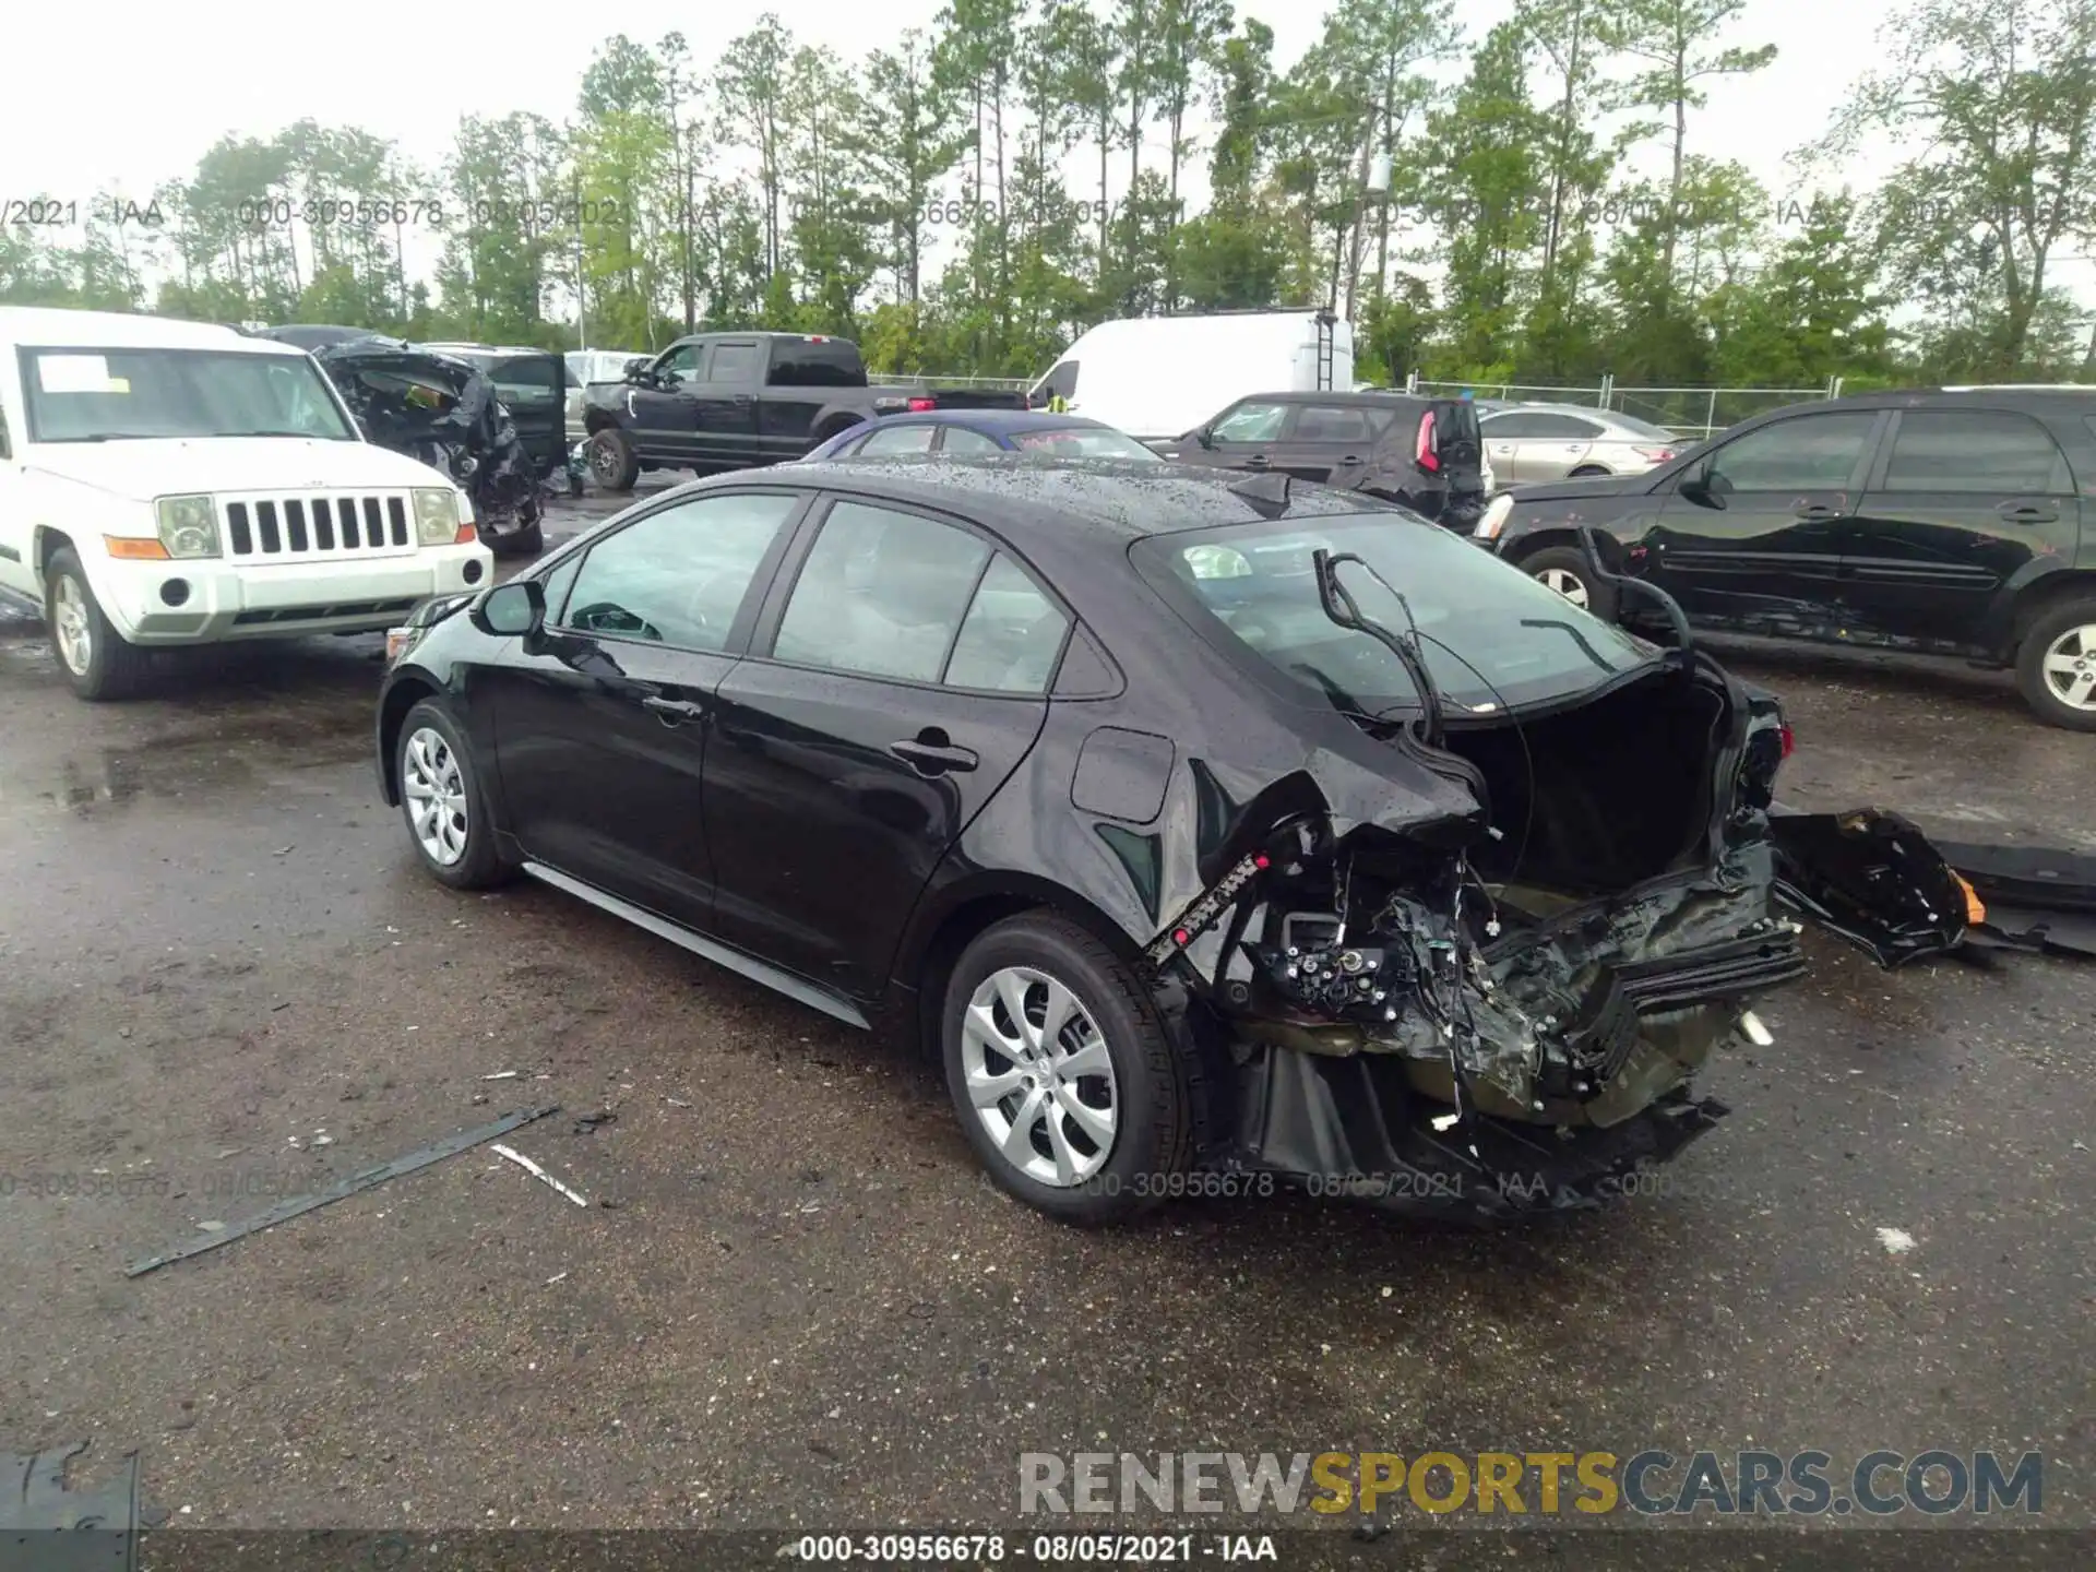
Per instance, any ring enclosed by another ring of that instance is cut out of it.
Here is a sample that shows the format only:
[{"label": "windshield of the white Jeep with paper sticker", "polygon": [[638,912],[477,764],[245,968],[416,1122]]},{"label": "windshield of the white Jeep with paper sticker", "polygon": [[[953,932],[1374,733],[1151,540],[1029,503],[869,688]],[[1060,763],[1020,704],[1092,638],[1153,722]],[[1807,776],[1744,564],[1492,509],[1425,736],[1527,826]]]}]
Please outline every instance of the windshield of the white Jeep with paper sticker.
[{"label": "windshield of the white Jeep with paper sticker", "polygon": [[304,354],[239,350],[23,350],[34,442],[157,436],[314,436],[354,442]]}]

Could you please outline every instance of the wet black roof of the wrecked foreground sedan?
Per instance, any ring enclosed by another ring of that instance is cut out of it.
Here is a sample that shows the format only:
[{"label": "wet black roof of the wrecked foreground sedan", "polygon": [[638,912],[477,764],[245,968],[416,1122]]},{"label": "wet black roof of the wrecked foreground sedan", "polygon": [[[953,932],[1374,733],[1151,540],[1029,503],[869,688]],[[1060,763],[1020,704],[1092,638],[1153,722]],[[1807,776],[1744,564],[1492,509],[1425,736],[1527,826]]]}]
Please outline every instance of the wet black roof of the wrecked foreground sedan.
[{"label": "wet black roof of the wrecked foreground sedan", "polygon": [[[767,478],[979,516],[1000,528],[1014,526],[1014,541],[1033,541],[1040,534],[1048,541],[1107,543],[1115,549],[1151,534],[1258,524],[1272,518],[1270,505],[1235,490],[1251,476],[1232,470],[1138,459],[1042,459],[1017,453],[964,459],[931,455],[817,459],[757,474],[713,476],[694,482],[694,488],[763,484]],[[1302,484],[1291,486],[1285,518],[1377,511],[1404,516],[1402,509],[1373,497]]]}]

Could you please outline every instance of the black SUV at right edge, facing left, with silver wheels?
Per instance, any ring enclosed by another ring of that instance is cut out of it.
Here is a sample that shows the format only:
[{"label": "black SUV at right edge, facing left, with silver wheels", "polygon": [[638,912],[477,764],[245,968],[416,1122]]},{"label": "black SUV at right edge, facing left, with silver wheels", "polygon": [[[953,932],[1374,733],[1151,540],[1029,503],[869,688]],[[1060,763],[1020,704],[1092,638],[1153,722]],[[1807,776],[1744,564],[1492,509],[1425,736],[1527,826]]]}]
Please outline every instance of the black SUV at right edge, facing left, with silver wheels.
[{"label": "black SUV at right edge, facing left, with silver wheels", "polygon": [[1585,524],[1696,627],[2014,667],[2042,719],[2096,732],[2096,388],[1790,405],[1641,476],[1518,486],[1476,534],[1614,616]]}]

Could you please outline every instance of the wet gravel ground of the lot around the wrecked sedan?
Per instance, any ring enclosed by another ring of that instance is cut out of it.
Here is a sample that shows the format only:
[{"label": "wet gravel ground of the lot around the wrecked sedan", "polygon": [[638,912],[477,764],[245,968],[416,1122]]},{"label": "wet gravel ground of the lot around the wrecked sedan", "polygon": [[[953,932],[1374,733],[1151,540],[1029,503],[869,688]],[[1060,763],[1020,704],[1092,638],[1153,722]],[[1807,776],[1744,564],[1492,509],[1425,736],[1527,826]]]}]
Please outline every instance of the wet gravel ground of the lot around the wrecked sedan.
[{"label": "wet gravel ground of the lot around the wrecked sedan", "polygon": [[[1786,801],[2096,845],[2096,738],[2004,677],[1727,648],[1790,706]],[[419,876],[377,677],[377,637],[308,639],[88,706],[0,614],[4,1450],[138,1448],[184,1528],[801,1532],[1010,1526],[1025,1450],[1993,1446],[2096,1524],[2092,970],[1813,937],[1775,1046],[1710,1077],[1731,1119],[1608,1214],[1082,1235],[985,1186],[926,1067],[553,891]],[[480,1149],[122,1272],[543,1102],[509,1142],[587,1207]]]}]

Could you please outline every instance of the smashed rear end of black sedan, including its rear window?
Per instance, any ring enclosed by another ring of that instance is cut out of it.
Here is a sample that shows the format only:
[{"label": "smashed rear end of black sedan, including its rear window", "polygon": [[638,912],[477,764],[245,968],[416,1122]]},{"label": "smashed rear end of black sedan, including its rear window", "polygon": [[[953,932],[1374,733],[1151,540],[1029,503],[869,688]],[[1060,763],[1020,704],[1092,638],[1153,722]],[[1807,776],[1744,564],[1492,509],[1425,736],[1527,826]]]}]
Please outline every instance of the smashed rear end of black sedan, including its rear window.
[{"label": "smashed rear end of black sedan, including its rear window", "polygon": [[1698,1073],[1805,970],[1773,700],[1402,514],[1203,534],[1138,566],[1247,675],[1325,698],[1251,790],[1191,761],[1201,891],[1144,954],[1226,1065],[1220,1163],[1494,1220],[1710,1130]]}]

